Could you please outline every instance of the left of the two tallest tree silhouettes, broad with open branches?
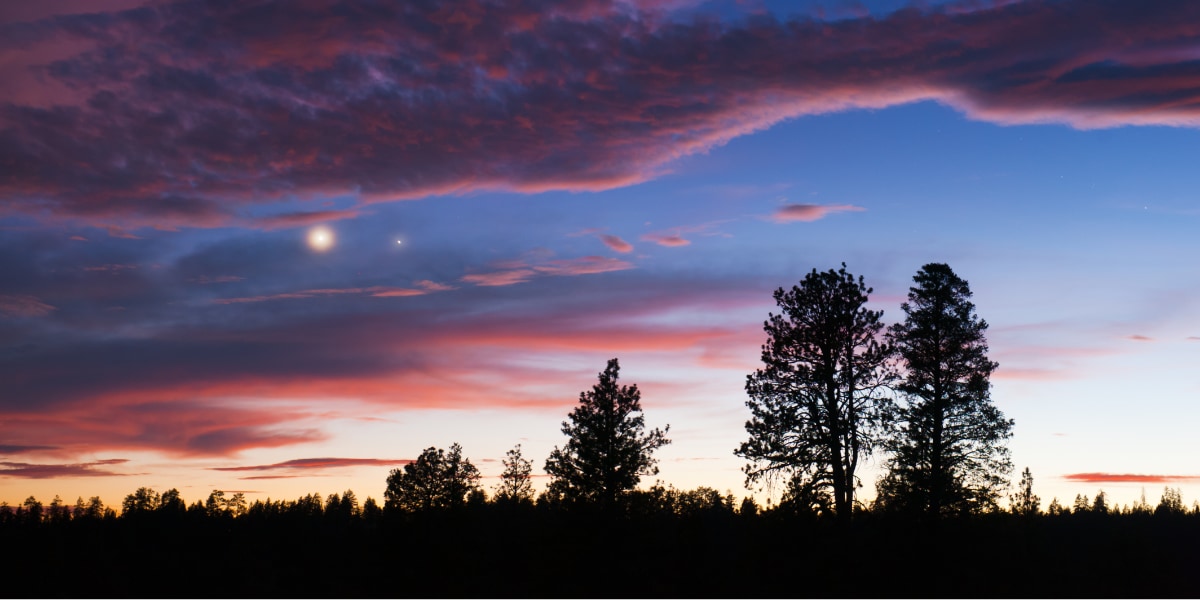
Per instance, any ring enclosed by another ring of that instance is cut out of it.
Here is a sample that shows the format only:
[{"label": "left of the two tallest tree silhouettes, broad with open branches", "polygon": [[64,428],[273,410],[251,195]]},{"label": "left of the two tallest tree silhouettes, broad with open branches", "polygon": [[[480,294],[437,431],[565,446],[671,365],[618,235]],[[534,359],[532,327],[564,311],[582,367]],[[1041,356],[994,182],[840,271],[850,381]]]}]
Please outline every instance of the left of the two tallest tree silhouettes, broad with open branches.
[{"label": "left of the two tallest tree silhouettes, broad with open branches", "polygon": [[775,290],[781,313],[763,324],[763,368],[746,377],[750,439],[734,452],[751,461],[748,487],[784,475],[790,504],[851,518],[892,378],[890,348],[877,340],[883,313],[865,307],[871,292],[845,264]]}]

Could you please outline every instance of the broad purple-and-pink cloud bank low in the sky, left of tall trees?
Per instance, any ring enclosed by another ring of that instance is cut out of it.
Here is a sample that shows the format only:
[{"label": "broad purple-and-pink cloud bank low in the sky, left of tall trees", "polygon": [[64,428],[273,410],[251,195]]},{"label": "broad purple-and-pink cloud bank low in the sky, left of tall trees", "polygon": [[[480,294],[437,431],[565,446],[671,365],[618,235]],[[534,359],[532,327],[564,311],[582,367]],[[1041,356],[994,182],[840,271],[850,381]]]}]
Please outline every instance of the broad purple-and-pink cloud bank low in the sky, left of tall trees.
[{"label": "broad purple-and-pink cloud bank low in the sky, left of tall trees", "polygon": [[[601,257],[556,262],[545,253],[522,260],[563,276],[623,266]],[[550,275],[540,275],[553,283]],[[757,319],[742,328],[659,317],[680,310],[727,312],[769,298],[766,290],[748,292],[727,281],[613,290],[584,278],[563,289],[571,293],[553,294],[554,301],[528,310],[450,306],[444,310],[455,316],[451,319],[431,318],[438,313],[422,308],[301,313],[280,320],[253,318],[276,311],[245,302],[221,308],[245,311],[236,313],[241,318],[235,326],[188,323],[139,338],[79,344],[67,340],[38,353],[18,353],[0,364],[6,385],[0,440],[8,448],[42,446],[40,452],[72,463],[85,462],[76,456],[98,451],[235,456],[328,439],[325,424],[378,415],[379,407],[560,413],[574,403],[580,385],[594,382],[599,366],[562,371],[532,358],[595,355],[602,365],[613,355],[634,360],[670,354],[708,364],[732,362],[740,354],[752,361],[762,342]],[[614,294],[626,301],[611,301]],[[365,300],[366,306],[388,304]],[[304,343],[312,340],[319,343]],[[646,390],[666,402],[682,396],[661,384],[647,384]]]}]

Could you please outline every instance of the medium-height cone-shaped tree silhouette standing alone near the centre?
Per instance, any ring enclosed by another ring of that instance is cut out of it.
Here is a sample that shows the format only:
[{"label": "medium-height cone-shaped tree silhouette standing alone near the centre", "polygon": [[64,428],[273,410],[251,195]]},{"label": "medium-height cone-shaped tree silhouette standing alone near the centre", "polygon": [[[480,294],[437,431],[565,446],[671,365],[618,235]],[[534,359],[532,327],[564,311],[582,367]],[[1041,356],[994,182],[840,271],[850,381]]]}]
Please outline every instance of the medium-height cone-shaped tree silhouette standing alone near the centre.
[{"label": "medium-height cone-shaped tree silhouette standing alone near the centre", "polygon": [[600,373],[590,391],[580,394],[580,406],[563,421],[566,445],[546,460],[550,497],[566,502],[614,506],[642,475],[656,475],[652,454],[671,443],[665,430],[646,431],[637,385],[618,385],[617,359]]}]

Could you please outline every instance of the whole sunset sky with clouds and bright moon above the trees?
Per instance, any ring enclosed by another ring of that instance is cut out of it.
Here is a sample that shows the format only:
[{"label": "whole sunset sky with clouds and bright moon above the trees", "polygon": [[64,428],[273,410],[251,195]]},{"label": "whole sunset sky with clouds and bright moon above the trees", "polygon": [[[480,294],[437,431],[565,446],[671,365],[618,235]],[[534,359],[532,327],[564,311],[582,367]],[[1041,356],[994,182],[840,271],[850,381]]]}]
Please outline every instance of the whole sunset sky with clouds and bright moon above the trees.
[{"label": "whole sunset sky with clouds and bright moon above the trees", "polygon": [[43,0],[0,82],[10,504],[540,487],[612,358],[643,485],[766,498],[772,293],[841,263],[970,282],[1044,504],[1200,498],[1196,2]]}]

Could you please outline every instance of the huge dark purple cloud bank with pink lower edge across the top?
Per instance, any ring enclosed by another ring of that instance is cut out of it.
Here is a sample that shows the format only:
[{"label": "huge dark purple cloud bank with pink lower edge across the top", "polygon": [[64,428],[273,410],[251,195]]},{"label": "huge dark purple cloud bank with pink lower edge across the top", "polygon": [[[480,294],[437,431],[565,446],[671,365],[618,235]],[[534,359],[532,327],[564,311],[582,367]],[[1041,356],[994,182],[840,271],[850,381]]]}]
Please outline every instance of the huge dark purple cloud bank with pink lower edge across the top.
[{"label": "huge dark purple cloud bank with pink lower edge across the top", "polygon": [[0,25],[20,76],[0,92],[2,214],[136,238],[338,194],[606,190],[790,118],[914,101],[1001,124],[1200,126],[1187,1],[724,23],[604,0],[470,18],[437,1],[106,6]]}]

